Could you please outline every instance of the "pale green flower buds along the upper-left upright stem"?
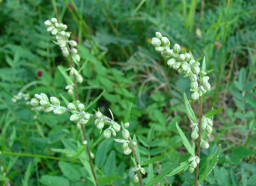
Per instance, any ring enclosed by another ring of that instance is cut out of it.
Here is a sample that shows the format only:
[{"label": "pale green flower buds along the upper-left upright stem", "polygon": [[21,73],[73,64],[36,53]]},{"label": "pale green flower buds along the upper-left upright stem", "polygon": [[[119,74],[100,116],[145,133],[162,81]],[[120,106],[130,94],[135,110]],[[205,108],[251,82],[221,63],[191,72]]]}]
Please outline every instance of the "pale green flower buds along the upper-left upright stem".
[{"label": "pale green flower buds along the upper-left upright stem", "polygon": [[[68,38],[70,37],[70,32],[65,31],[67,29],[67,25],[63,23],[58,23],[56,18],[46,20],[44,22],[44,25],[47,27],[48,32],[51,32],[52,35],[55,35],[57,42],[54,43],[60,46],[63,56],[67,57],[70,54],[73,60],[79,62],[80,56],[77,54],[77,49],[74,48],[75,46],[77,46],[77,42],[74,40],[68,40]],[[75,75],[77,77],[77,82],[82,83],[83,78],[74,67],[72,67],[69,71],[69,75]],[[72,88],[72,86],[69,88],[66,87],[66,89],[68,89],[69,95],[73,94],[74,88]]]}]

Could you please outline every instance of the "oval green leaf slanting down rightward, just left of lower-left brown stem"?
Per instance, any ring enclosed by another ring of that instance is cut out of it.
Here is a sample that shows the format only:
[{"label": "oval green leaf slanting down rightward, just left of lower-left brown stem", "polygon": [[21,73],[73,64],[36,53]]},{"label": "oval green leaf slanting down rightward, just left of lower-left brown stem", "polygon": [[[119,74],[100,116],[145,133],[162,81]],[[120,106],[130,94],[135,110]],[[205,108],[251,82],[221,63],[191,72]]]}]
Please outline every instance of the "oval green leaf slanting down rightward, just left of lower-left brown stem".
[{"label": "oval green leaf slanting down rightward, just left of lower-left brown stem", "polygon": [[59,167],[63,175],[69,179],[70,181],[77,181],[80,179],[81,174],[80,171],[74,167],[71,163],[65,161],[59,161]]}]

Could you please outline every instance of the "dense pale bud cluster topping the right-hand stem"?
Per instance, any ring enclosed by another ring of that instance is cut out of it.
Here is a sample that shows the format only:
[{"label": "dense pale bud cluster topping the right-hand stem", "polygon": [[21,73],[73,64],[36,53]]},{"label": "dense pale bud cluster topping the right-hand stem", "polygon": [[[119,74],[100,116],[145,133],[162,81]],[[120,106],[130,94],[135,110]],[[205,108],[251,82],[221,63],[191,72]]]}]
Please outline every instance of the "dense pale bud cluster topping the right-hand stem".
[{"label": "dense pale bud cluster topping the right-hand stem", "polygon": [[[161,55],[165,58],[171,57],[167,61],[167,65],[177,70],[180,74],[185,74],[184,77],[188,77],[191,81],[190,91],[192,92],[191,98],[196,100],[199,96],[202,96],[207,90],[210,90],[211,86],[208,83],[209,77],[205,76],[207,73],[200,70],[200,63],[197,60],[191,58],[190,53],[179,54],[180,46],[174,44],[170,49],[170,41],[167,37],[162,37],[160,32],[155,32],[155,36],[152,38],[151,44],[155,47],[157,52],[161,52]],[[199,82],[197,82],[199,79]],[[198,87],[198,84],[200,86]],[[202,86],[201,86],[202,84]]]}]

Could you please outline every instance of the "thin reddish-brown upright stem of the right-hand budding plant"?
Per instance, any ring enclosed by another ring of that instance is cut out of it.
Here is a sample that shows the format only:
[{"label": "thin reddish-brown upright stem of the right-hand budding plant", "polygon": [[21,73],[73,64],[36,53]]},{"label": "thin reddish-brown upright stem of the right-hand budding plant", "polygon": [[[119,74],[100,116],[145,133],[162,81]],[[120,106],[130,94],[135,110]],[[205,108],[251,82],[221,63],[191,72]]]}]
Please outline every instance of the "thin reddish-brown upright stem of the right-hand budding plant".
[{"label": "thin reddish-brown upright stem of the right-hand budding plant", "polygon": [[[201,84],[199,82],[199,78],[197,76],[197,83],[198,83],[198,87],[201,87]],[[201,146],[200,146],[200,142],[201,142],[201,134],[202,134],[202,96],[199,96],[199,124],[198,124],[198,146],[197,146],[197,156],[200,157],[200,150],[201,150]],[[199,171],[199,163],[197,164],[196,167],[196,173],[195,173],[195,184],[194,186],[197,186],[197,179],[198,179],[198,171]]]}]

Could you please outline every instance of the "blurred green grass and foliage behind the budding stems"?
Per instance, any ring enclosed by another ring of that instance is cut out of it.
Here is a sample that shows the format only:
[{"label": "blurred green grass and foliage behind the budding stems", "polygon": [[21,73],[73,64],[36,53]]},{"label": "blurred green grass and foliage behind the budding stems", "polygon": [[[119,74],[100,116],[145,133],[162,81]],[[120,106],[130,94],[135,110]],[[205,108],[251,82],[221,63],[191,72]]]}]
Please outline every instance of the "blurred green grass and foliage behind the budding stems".
[{"label": "blurred green grass and foliage behind the budding stems", "polygon": [[[63,106],[60,94],[74,100],[59,71],[70,61],[43,24],[56,17],[78,40],[81,65],[88,58],[80,101],[88,105],[105,90],[88,112],[99,107],[111,117],[110,108],[118,122],[132,103],[129,131],[137,136],[142,159],[166,154],[154,164],[155,174],[170,162],[189,157],[175,122],[190,139],[182,97],[183,92],[190,93],[189,79],[168,68],[151,38],[159,31],[182,52],[205,56],[206,68],[215,70],[209,75],[212,88],[203,97],[203,113],[224,108],[206,137],[210,148],[201,152],[203,169],[207,156],[222,144],[219,161],[204,185],[256,185],[255,13],[256,1],[251,0],[0,1],[0,158],[11,180],[15,185],[92,185],[86,166],[73,158],[83,138],[69,121],[70,113],[35,112],[27,104],[40,92],[59,97]],[[191,104],[198,114],[197,102]],[[136,185],[130,156],[113,137],[104,139],[93,123],[90,120],[85,128],[100,185]],[[194,174],[181,172],[161,184],[190,185]],[[7,185],[6,180],[1,169],[1,185]]]}]

